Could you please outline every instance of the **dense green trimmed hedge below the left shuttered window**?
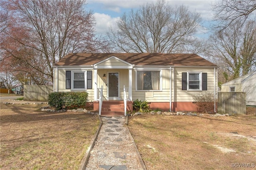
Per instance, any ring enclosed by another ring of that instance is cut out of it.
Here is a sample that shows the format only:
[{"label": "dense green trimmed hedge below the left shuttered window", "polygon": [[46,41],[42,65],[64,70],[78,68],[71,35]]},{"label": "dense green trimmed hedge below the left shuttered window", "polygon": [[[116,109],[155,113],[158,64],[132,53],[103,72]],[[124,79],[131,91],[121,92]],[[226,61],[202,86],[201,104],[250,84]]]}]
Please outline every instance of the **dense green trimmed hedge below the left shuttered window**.
[{"label": "dense green trimmed hedge below the left shuttered window", "polygon": [[48,96],[48,104],[57,109],[85,108],[87,92],[53,92]]}]

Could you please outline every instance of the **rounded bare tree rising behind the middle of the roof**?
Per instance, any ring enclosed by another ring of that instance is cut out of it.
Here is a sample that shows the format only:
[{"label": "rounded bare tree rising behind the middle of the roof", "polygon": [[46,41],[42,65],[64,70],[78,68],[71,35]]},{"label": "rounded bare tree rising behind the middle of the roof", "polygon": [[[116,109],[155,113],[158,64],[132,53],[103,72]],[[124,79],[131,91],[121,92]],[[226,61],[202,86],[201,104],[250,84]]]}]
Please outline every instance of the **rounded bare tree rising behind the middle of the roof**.
[{"label": "rounded bare tree rising behind the middle of the roof", "polygon": [[124,13],[107,35],[116,52],[200,53],[204,46],[193,35],[201,17],[185,6],[173,8],[164,0]]}]

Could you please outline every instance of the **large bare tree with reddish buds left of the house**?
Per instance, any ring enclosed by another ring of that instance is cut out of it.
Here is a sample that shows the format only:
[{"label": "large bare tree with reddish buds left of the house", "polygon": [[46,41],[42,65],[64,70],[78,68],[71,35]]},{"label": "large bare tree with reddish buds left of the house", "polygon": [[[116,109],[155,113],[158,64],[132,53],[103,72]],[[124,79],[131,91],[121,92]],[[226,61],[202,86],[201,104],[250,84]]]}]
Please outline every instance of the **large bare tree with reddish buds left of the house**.
[{"label": "large bare tree with reddish buds left of the house", "polygon": [[11,23],[0,35],[2,60],[11,60],[12,68],[18,64],[17,69],[34,75],[35,83],[52,81],[52,65],[67,53],[100,52],[106,47],[106,41],[94,34],[95,19],[92,11],[84,10],[85,0],[0,3]]}]

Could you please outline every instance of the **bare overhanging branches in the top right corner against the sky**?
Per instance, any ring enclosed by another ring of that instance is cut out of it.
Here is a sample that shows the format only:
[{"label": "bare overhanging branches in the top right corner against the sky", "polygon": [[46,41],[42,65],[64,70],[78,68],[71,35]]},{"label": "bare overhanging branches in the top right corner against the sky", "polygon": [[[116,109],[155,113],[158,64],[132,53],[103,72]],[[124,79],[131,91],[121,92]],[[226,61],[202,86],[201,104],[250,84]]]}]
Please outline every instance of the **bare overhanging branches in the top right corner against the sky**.
[{"label": "bare overhanging branches in the top right corner against the sky", "polygon": [[212,10],[216,12],[214,18],[218,21],[217,27],[225,29],[237,20],[240,20],[241,24],[250,17],[255,20],[256,0],[220,0],[216,1]]}]

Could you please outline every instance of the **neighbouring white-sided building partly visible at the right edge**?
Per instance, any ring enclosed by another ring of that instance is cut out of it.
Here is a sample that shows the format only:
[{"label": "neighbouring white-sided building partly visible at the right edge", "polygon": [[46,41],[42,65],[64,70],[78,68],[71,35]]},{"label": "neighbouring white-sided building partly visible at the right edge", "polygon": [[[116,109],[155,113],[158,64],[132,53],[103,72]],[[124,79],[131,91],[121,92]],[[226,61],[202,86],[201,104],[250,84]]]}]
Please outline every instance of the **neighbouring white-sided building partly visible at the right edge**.
[{"label": "neighbouring white-sided building partly visible at the right edge", "polygon": [[245,92],[246,105],[256,106],[256,71],[222,84],[221,92]]}]

